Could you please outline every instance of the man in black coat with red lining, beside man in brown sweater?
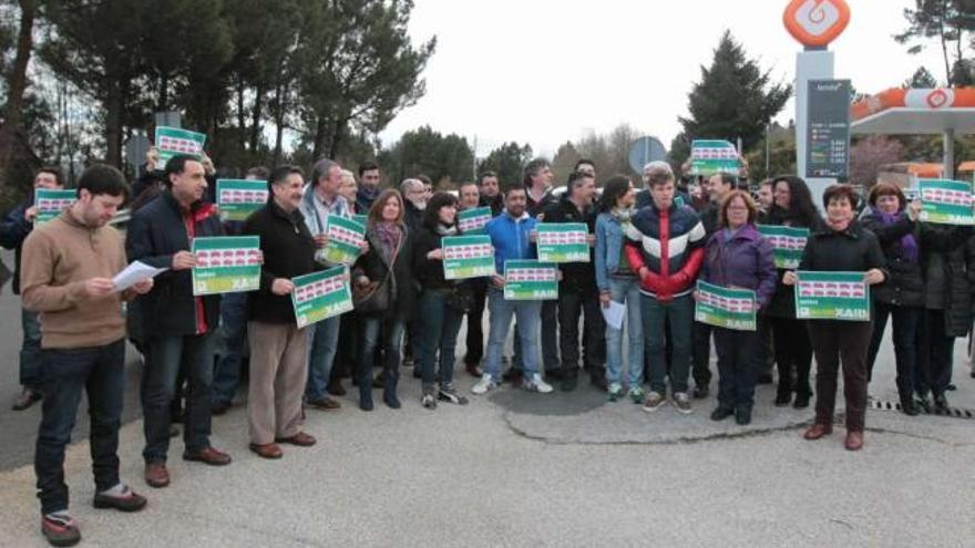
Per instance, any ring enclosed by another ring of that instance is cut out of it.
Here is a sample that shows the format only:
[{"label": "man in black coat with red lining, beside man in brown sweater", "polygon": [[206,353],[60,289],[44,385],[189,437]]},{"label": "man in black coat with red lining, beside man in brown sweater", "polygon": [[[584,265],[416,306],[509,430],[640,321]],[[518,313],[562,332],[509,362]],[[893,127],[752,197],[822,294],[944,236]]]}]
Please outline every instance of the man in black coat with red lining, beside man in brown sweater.
[{"label": "man in black coat with red lining, beside man in brown sweater", "polygon": [[220,299],[193,294],[191,270],[196,257],[189,251],[193,238],[220,236],[223,228],[213,204],[202,199],[207,184],[203,164],[196,157],[174,156],[166,163],[165,173],[168,187],[133,214],[125,241],[130,260],[170,269],[158,275],[153,290],[140,298],[148,347],[142,386],[142,454],[145,480],[152,487],[170,485],[170,404],[181,369],[188,381],[183,459],[209,465],[230,463],[229,455],[209,444]]}]

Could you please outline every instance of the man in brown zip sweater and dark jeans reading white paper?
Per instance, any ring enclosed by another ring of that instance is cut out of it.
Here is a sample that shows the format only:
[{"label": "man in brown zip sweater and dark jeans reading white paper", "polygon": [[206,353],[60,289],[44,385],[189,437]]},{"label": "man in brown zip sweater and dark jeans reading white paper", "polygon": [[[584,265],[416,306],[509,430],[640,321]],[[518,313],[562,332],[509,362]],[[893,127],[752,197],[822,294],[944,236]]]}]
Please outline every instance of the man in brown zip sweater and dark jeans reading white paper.
[{"label": "man in brown zip sweater and dark jeans reading white paper", "polygon": [[43,415],[34,469],[41,533],[71,546],[81,533],[68,514],[64,448],[71,441],[83,392],[91,416],[94,506],[136,511],[145,498],[119,479],[119,427],[125,392],[125,320],[122,300],[152,289],[143,280],[123,292],[112,278],[125,268],[121,235],[107,221],[125,198],[117,169],[94,165],[78,184],[78,201],[35,228],[23,245],[23,307],[41,319]]}]

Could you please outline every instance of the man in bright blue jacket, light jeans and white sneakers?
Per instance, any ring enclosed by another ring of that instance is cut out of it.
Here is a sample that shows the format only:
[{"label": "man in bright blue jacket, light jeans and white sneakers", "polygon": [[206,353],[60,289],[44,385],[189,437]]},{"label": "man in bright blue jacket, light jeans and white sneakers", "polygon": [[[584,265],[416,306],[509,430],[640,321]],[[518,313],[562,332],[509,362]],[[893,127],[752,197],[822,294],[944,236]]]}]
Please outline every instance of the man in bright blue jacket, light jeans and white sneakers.
[{"label": "man in bright blue jacket, light jeans and white sneakers", "polygon": [[532,392],[552,392],[538,369],[538,331],[542,301],[509,301],[504,299],[504,262],[516,259],[534,259],[535,246],[532,230],[536,220],[527,211],[527,193],[524,186],[511,186],[504,190],[505,210],[491,220],[484,229],[494,247],[494,271],[488,289],[488,309],[491,325],[488,333],[488,356],[484,360],[484,375],[471,389],[474,394],[484,394],[497,387],[501,382],[501,354],[504,341],[511,330],[511,320],[517,316],[517,338],[521,341],[524,379],[522,387]]}]

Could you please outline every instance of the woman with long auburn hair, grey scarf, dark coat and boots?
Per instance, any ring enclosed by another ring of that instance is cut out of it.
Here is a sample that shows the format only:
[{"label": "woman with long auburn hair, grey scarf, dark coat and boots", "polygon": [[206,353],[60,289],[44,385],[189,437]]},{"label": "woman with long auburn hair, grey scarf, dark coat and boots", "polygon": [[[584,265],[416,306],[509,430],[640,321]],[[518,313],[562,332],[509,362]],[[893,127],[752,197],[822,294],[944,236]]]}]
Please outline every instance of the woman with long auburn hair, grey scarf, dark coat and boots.
[{"label": "woman with long auburn hair, grey scarf, dark coat and boots", "polygon": [[[399,409],[397,383],[400,378],[400,349],[406,322],[415,309],[412,280],[412,240],[403,224],[403,198],[384,190],[369,209],[366,239],[369,252],[356,261],[356,313],[359,317],[359,407],[372,411],[373,354],[382,343],[382,401]],[[382,341],[380,341],[380,335]]]}]

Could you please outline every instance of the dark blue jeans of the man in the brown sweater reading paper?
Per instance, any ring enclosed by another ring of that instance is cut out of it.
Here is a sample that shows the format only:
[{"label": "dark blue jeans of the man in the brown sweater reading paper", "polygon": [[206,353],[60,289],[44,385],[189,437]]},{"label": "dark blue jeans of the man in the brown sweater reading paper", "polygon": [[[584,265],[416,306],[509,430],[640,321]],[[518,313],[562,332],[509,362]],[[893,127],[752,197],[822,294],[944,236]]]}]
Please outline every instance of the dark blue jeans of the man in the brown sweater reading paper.
[{"label": "dark blue jeans of the man in the brown sweater reading paper", "polygon": [[68,509],[64,448],[71,442],[74,417],[88,392],[91,456],[95,490],[119,484],[119,428],[125,395],[125,340],[104,347],[44,350],[41,362],[44,403],[38,430],[34,471],[41,513]]}]

